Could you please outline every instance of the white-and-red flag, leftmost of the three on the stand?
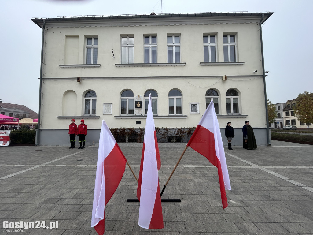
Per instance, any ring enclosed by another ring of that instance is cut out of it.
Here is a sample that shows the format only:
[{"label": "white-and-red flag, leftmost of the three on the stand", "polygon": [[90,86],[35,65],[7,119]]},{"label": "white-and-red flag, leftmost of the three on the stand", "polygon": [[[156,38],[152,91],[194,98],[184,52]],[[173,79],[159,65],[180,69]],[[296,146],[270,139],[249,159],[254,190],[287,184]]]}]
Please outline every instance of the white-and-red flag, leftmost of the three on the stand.
[{"label": "white-and-red flag, leftmost of the three on the stand", "polygon": [[124,154],[117,145],[105,121],[102,120],[91,216],[91,227],[95,227],[99,235],[104,234],[105,205],[120,184],[125,165],[126,158]]}]

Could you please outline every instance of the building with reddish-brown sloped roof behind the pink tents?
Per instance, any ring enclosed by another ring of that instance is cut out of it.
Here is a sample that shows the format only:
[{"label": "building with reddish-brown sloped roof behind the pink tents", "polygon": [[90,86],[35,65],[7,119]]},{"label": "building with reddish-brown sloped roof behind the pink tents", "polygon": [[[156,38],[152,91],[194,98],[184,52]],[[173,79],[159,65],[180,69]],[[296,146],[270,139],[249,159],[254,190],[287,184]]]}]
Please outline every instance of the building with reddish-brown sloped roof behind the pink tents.
[{"label": "building with reddish-brown sloped roof behind the pink tents", "polygon": [[38,113],[20,104],[4,103],[0,100],[0,113],[13,118],[38,118]]}]

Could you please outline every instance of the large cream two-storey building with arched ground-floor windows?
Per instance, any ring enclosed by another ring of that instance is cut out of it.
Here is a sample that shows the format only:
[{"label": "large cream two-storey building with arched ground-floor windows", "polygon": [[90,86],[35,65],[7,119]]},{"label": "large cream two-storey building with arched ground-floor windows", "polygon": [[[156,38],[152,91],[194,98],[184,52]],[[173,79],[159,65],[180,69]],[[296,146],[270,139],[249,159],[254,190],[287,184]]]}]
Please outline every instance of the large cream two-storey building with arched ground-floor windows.
[{"label": "large cream two-storey building with arched ground-floor windows", "polygon": [[68,145],[72,118],[88,125],[86,145],[98,142],[102,119],[110,128],[144,128],[151,93],[156,127],[197,126],[213,101],[222,136],[230,121],[241,145],[249,120],[258,145],[267,145],[259,24],[272,14],[32,19],[44,32],[37,144]]}]

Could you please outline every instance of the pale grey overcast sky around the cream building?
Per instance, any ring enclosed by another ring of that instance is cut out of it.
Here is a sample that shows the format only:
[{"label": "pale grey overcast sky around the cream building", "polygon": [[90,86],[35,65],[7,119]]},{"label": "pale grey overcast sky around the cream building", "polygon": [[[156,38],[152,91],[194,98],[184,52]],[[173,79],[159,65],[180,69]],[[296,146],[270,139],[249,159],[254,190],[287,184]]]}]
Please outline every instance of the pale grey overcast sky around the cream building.
[{"label": "pale grey overcast sky around the cream building", "polygon": [[31,18],[69,15],[274,12],[263,24],[267,98],[286,102],[313,92],[312,0],[7,0],[0,6],[0,99],[38,112],[42,29]]}]

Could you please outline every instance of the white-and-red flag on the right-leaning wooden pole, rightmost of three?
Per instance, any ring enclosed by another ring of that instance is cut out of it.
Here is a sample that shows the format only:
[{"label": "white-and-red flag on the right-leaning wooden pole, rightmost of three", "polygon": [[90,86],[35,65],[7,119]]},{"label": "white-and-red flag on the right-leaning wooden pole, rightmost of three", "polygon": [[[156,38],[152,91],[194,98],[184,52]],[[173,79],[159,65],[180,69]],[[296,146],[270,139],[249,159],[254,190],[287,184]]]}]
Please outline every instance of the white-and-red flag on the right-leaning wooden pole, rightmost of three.
[{"label": "white-and-red flag on the right-leaning wooden pole, rightmost of three", "polygon": [[231,190],[225,152],[214,104],[211,101],[187,146],[206,157],[218,169],[223,208],[227,207],[225,188]]}]

